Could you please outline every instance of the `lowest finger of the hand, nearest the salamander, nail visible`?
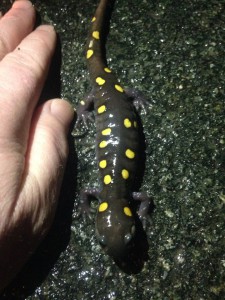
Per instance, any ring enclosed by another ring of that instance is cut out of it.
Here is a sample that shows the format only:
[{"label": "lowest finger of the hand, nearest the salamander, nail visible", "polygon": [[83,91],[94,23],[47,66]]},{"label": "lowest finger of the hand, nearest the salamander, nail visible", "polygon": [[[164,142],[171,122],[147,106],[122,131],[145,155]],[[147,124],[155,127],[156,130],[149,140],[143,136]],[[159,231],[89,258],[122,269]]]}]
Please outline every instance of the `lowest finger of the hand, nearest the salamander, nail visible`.
[{"label": "lowest finger of the hand, nearest the salamander, nail visible", "polygon": [[45,232],[54,216],[68,155],[67,135],[73,116],[74,110],[68,102],[55,99],[44,103],[32,120],[17,206],[23,207],[19,202],[22,203],[29,195],[26,206],[31,211],[34,234]]}]

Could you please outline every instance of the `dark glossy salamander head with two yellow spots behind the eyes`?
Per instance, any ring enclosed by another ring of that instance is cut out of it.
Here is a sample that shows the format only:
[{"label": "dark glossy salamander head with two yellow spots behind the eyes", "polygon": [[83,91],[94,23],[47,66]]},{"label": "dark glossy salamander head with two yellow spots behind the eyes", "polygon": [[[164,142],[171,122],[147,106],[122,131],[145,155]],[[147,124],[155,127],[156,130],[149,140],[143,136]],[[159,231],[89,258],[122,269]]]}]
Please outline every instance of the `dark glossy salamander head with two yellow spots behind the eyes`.
[{"label": "dark glossy salamander head with two yellow spots behind the eyes", "polygon": [[96,234],[100,245],[113,258],[124,257],[135,236],[135,219],[127,200],[102,202],[96,217]]}]

